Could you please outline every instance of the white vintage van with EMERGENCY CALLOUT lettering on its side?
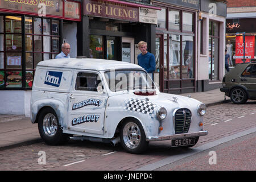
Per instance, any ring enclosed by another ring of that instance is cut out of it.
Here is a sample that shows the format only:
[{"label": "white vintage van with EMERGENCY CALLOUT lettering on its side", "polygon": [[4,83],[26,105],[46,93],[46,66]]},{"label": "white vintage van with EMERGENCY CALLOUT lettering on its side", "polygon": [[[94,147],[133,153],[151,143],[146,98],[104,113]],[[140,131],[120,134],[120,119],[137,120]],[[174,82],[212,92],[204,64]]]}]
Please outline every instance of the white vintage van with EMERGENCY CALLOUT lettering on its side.
[{"label": "white vintage van with EMERGENCY CALLOUT lettering on its side", "polygon": [[31,122],[50,145],[88,139],[143,152],[148,142],[192,147],[203,130],[205,105],[160,93],[143,68],[121,61],[55,59],[37,67]]}]

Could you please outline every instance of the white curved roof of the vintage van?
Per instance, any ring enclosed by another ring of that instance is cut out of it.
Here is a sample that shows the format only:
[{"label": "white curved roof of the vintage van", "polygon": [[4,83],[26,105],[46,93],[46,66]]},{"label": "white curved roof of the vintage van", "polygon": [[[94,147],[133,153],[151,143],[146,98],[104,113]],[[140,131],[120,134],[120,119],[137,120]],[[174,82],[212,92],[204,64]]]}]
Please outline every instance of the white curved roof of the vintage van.
[{"label": "white curved roof of the vintage van", "polygon": [[75,69],[93,69],[96,71],[104,71],[110,69],[143,69],[137,64],[126,63],[122,61],[105,60],[105,59],[51,59],[40,61],[38,66],[43,67],[59,67],[59,68],[75,68]]}]

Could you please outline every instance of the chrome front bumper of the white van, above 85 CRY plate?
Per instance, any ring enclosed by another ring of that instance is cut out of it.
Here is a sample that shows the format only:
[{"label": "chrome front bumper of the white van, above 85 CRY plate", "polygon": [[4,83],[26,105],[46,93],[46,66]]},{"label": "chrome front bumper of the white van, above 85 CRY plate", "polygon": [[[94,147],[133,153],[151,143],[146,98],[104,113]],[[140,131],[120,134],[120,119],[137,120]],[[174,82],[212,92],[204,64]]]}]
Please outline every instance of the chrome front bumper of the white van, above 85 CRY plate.
[{"label": "chrome front bumper of the white van, above 85 CRY plate", "polygon": [[189,137],[200,137],[200,136],[205,136],[207,134],[208,134],[208,131],[199,131],[194,133],[166,135],[162,137],[147,137],[146,141],[151,142],[151,141],[172,140],[172,139],[181,139],[181,138],[189,138]]}]

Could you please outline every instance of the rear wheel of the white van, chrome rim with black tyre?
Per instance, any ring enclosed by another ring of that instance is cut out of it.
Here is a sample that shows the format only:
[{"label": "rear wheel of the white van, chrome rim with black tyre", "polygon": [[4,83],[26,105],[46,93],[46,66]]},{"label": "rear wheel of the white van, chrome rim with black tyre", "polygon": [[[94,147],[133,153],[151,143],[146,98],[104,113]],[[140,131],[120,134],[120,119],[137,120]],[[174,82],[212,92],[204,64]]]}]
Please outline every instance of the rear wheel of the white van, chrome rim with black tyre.
[{"label": "rear wheel of the white van, chrome rim with black tyre", "polygon": [[48,145],[63,144],[69,139],[68,135],[63,134],[59,119],[51,108],[46,108],[39,114],[38,130],[41,138]]}]

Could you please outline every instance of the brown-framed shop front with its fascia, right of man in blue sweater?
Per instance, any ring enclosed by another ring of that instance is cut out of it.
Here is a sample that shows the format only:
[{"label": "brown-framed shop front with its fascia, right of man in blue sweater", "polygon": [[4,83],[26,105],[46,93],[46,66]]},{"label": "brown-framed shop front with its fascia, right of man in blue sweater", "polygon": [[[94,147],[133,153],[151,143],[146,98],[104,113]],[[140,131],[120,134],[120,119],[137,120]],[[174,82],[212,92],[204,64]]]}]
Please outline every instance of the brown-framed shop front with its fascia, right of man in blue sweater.
[{"label": "brown-framed shop front with its fascia, right of man in blue sweater", "polygon": [[162,7],[156,25],[156,73],[165,93],[196,91],[197,1],[151,1]]}]

